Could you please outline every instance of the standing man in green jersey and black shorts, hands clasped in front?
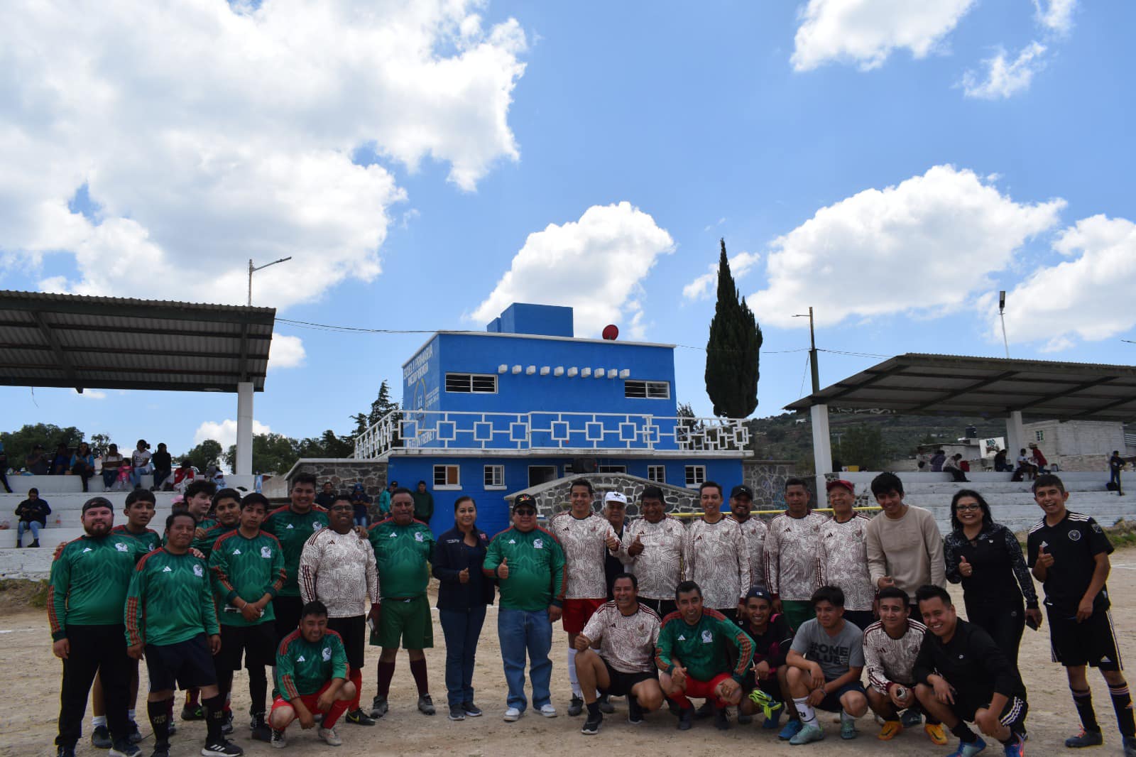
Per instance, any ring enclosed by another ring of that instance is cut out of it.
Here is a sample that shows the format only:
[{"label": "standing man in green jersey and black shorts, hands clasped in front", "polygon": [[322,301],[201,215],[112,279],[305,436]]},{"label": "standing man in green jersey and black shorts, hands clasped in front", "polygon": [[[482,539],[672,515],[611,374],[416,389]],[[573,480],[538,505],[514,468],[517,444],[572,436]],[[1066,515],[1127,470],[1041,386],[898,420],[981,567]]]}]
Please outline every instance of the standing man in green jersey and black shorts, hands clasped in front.
[{"label": "standing man in green jersey and black shorts, hands clasped in front", "polygon": [[[218,504],[218,514],[228,502]],[[220,693],[233,690],[233,672],[241,668],[241,656],[249,671],[249,729],[252,738],[268,741],[272,731],[265,722],[268,676],[265,666],[276,662],[276,616],[273,598],[284,585],[284,550],[276,536],[260,530],[268,515],[268,499],[252,492],[241,500],[241,521],[235,531],[220,536],[209,556],[214,596],[220,613],[220,654],[214,657]]]}]

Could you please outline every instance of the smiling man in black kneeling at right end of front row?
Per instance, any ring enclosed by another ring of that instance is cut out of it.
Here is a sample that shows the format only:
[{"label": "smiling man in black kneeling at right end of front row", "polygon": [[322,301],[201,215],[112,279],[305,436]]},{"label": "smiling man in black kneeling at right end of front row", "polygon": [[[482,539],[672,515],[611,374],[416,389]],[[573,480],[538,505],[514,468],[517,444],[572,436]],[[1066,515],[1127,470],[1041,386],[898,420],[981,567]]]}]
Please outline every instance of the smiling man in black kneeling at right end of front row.
[{"label": "smiling man in black kneeling at right end of front row", "polygon": [[1029,708],[1017,668],[989,634],[959,619],[945,589],[920,587],[916,599],[930,630],[916,658],[916,697],[959,737],[951,757],[972,757],[986,748],[966,721],[1001,741],[1006,757],[1025,754],[1021,734]]}]

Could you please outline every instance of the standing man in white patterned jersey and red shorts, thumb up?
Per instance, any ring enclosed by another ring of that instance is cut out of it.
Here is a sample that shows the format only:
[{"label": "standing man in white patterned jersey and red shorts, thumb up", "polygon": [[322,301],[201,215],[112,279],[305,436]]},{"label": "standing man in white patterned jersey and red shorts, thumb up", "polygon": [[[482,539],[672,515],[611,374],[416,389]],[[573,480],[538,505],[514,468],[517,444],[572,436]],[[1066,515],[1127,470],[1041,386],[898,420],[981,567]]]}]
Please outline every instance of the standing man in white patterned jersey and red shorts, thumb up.
[{"label": "standing man in white patterned jersey and red shorts, thumb up", "polygon": [[608,601],[603,573],[608,554],[619,551],[619,538],[611,524],[592,509],[592,482],[576,479],[569,489],[570,509],[549,522],[549,531],[565,551],[565,604],[561,622],[568,633],[568,682],[571,683],[569,715],[584,712],[583,691],[576,677],[576,635],[584,630],[592,613]]}]

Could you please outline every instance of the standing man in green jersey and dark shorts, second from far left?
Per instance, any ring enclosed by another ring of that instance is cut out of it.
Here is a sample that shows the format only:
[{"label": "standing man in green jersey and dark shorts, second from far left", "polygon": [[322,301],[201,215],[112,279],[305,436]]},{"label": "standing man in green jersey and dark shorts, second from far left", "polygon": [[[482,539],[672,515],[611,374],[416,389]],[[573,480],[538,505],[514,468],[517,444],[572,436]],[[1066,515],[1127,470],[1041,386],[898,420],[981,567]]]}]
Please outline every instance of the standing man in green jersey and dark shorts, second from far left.
[{"label": "standing man in green jersey and dark shorts, second from far left", "polygon": [[197,521],[186,511],[166,518],[166,546],[139,560],[126,594],[127,654],[145,654],[150,673],[147,709],[153,726],[151,757],[169,757],[169,706],[174,687],[199,687],[206,710],[204,757],[244,750],[227,741],[225,698],[217,690],[211,656],[220,651],[220,627],[206,561],[190,552]]}]

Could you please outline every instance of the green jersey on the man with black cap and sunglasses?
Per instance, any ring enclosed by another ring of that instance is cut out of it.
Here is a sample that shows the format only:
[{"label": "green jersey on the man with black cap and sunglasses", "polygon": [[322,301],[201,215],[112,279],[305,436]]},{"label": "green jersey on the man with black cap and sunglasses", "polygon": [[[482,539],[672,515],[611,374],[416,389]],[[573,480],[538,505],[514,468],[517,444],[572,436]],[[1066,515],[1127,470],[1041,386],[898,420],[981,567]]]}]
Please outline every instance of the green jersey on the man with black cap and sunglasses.
[{"label": "green jersey on the man with black cap and sunglasses", "polygon": [[548,531],[507,529],[493,536],[485,554],[485,568],[496,571],[501,561],[509,577],[499,581],[501,607],[535,613],[563,600],[565,552]]}]

